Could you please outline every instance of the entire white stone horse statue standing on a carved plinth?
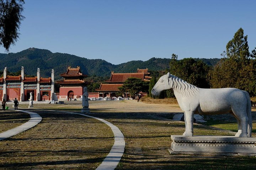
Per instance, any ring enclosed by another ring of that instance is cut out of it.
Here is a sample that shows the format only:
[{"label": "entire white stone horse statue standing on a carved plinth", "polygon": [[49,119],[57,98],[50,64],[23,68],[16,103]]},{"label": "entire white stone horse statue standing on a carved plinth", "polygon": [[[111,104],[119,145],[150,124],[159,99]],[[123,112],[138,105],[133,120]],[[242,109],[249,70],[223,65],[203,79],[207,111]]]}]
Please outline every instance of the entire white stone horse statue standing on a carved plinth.
[{"label": "entire white stone horse statue standing on a carved plinth", "polygon": [[173,89],[180,108],[184,112],[186,130],[184,136],[193,136],[194,114],[232,114],[238,121],[236,137],[251,137],[251,101],[247,91],[235,88],[201,89],[167,73],[151,90],[159,96],[162,90]]}]

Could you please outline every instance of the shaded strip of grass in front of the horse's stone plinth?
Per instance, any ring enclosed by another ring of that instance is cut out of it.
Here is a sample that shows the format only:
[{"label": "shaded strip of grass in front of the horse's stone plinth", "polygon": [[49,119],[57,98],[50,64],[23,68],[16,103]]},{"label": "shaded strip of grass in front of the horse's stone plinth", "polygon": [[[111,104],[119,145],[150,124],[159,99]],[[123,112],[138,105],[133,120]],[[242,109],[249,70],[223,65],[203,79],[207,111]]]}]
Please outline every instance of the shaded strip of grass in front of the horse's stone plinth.
[{"label": "shaded strip of grass in front of the horse's stone plinth", "polygon": [[203,157],[203,156],[170,156],[153,158],[152,155],[143,155],[143,158],[134,158],[124,155],[118,169],[165,169],[165,170],[254,170],[255,157]]}]

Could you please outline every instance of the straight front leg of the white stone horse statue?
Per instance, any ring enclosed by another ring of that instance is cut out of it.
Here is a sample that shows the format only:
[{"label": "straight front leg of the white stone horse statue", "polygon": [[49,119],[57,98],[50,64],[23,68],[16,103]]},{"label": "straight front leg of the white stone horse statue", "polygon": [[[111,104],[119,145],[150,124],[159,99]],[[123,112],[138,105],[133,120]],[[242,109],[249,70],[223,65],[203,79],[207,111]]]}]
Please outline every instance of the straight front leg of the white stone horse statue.
[{"label": "straight front leg of the white stone horse statue", "polygon": [[185,132],[183,136],[193,136],[193,122],[194,122],[194,112],[193,111],[185,111],[184,112],[184,120],[185,120]]}]

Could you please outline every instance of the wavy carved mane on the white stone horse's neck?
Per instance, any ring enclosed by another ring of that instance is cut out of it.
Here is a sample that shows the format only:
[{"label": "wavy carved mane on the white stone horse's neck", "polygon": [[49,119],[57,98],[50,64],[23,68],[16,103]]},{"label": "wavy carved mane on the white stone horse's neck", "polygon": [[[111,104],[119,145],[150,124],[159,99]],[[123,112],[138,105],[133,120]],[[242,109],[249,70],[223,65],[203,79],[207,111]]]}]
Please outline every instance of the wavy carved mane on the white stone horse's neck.
[{"label": "wavy carved mane on the white stone horse's neck", "polygon": [[196,96],[199,88],[192,84],[187,83],[187,81],[170,74],[169,79],[173,81],[172,88],[176,89],[177,92],[182,94],[183,97]]}]

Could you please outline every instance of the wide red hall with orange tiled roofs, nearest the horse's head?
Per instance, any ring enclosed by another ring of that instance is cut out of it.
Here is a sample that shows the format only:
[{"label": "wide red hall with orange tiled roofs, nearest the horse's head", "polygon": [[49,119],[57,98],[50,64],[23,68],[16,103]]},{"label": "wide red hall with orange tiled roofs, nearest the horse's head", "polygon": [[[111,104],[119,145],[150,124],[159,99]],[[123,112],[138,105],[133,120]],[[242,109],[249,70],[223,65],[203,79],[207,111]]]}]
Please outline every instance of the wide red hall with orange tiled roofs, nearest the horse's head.
[{"label": "wide red hall with orange tiled roofs, nearest the horse's head", "polygon": [[[138,78],[144,81],[150,81],[151,77],[149,76],[148,69],[137,69],[137,73],[114,73],[111,72],[110,79],[105,82],[108,84],[101,84],[98,91],[98,97],[118,97],[116,93],[119,91],[118,87],[122,86],[124,81],[128,78]],[[130,97],[129,93],[126,92],[123,97]]]}]

